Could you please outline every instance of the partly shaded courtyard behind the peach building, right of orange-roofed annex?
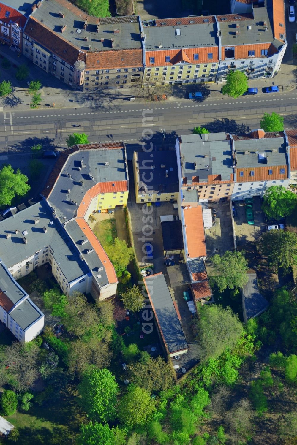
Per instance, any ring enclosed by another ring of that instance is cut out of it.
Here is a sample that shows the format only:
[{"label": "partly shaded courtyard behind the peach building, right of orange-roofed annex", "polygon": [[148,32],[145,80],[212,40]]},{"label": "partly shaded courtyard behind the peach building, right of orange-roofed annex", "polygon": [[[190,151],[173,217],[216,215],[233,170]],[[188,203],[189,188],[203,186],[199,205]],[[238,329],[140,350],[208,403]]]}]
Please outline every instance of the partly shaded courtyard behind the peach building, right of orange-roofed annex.
[{"label": "partly shaded courtyard behind the peach building, right of orange-roofed annex", "polygon": [[208,207],[216,210],[216,225],[205,229],[207,257],[234,250],[232,218],[229,202],[209,203]]}]

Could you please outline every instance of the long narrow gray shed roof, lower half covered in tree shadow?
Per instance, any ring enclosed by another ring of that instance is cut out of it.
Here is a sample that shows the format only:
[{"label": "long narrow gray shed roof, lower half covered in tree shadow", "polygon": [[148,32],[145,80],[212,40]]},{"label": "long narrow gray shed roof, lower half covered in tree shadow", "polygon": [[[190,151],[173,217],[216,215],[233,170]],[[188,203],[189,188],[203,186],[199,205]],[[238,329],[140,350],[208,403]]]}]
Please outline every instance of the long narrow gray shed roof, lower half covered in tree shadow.
[{"label": "long narrow gray shed roof, lower half covered in tree shadow", "polygon": [[159,329],[170,354],[187,349],[187,342],[163,274],[145,279]]}]

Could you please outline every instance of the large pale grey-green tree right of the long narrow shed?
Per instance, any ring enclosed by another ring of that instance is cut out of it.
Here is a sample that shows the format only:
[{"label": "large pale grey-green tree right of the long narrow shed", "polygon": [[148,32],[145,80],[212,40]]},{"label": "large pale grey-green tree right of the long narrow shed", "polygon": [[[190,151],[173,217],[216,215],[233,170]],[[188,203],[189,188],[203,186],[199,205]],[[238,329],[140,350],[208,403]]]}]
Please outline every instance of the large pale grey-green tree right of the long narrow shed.
[{"label": "large pale grey-green tree right of the long narrow shed", "polygon": [[243,334],[243,325],[230,307],[204,305],[197,320],[201,360],[216,359],[226,348],[235,348]]}]

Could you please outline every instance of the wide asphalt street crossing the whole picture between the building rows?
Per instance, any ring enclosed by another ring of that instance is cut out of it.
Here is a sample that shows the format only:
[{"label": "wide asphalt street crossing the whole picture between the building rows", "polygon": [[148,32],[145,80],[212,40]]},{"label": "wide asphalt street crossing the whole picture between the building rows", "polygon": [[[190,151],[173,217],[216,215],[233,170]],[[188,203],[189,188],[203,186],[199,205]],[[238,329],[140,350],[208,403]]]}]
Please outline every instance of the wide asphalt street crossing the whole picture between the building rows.
[{"label": "wide asphalt street crossing the whole picture between the building rows", "polygon": [[[152,108],[129,103],[106,111],[88,107],[0,112],[0,153],[30,151],[35,143],[44,148],[65,148],[65,139],[73,132],[84,132],[90,142],[124,141],[128,158],[147,138],[157,146],[174,143],[177,135],[190,134],[195,126],[207,126],[213,133],[240,133],[258,128],[264,112],[284,116],[285,128],[297,128],[297,90],[285,93],[164,101]],[[81,127],[78,127],[81,125]],[[163,136],[166,129],[165,137]]]}]

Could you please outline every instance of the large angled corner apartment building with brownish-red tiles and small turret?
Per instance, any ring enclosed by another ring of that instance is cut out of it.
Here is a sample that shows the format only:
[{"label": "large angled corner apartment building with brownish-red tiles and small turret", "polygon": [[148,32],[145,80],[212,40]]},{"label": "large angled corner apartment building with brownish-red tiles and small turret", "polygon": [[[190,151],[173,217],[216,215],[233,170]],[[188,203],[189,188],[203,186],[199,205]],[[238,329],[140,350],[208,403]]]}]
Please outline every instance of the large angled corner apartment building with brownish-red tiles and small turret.
[{"label": "large angled corner apartment building with brownish-red tiles and small turret", "polygon": [[23,54],[74,89],[124,88],[142,81],[138,16],[89,16],[67,0],[40,0],[23,34]]}]

